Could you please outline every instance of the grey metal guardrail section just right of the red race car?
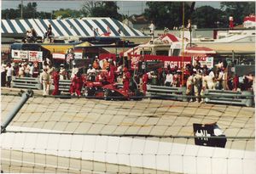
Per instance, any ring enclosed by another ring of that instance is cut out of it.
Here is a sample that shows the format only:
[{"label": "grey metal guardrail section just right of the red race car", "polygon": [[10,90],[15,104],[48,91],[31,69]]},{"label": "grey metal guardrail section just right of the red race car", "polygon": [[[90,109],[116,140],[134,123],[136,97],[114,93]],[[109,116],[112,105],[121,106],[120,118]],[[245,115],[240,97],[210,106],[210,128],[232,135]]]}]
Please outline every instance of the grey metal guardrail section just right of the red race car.
[{"label": "grey metal guardrail section just right of the red race car", "polygon": [[147,85],[147,93],[149,98],[166,98],[178,101],[187,101],[183,96],[186,93],[186,87],[165,87]]}]

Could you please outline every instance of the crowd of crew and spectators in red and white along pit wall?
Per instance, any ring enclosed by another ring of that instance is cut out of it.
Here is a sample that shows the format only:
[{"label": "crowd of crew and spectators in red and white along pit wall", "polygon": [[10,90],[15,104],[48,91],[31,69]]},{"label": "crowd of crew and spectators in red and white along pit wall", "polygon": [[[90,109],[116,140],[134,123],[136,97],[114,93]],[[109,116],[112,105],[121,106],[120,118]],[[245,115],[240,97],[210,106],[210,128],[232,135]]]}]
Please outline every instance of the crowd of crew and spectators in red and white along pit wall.
[{"label": "crowd of crew and spectators in red and white along pit wall", "polygon": [[[50,84],[54,84],[52,95],[59,95],[59,81],[71,80],[71,95],[81,96],[81,90],[86,85],[86,81],[101,81],[102,84],[112,84],[114,82],[123,83],[124,90],[131,90],[131,81],[136,81],[137,87],[143,93],[147,94],[147,85],[159,85],[166,87],[186,87],[189,101],[204,102],[203,96],[207,89],[224,89],[224,90],[253,90],[254,75],[243,76],[242,84],[238,76],[228,73],[228,66],[225,61],[219,62],[214,68],[209,69],[206,65],[201,66],[200,62],[196,65],[186,65],[185,70],[176,67],[159,68],[147,72],[143,70],[135,76],[131,76],[131,70],[128,65],[117,63],[113,58],[100,60],[95,58],[92,64],[86,67],[86,70],[73,62],[73,68],[67,70],[64,64],[56,69],[49,59],[44,59],[41,70],[38,62],[27,62],[23,60],[19,64],[8,63],[2,65],[2,87],[10,87],[12,76],[18,77],[39,77],[43,84],[43,95],[49,95]],[[41,73],[40,73],[41,71]]]}]

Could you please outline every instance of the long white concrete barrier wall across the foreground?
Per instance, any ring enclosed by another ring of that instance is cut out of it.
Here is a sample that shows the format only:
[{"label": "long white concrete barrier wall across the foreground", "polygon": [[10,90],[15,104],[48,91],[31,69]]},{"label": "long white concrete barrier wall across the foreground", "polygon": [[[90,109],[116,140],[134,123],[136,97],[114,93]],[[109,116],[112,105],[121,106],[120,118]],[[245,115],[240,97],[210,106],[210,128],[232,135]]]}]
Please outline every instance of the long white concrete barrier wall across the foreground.
[{"label": "long white concrete barrier wall across the foreground", "polygon": [[[13,127],[20,131],[50,130]],[[1,148],[181,173],[255,173],[255,152],[138,138],[3,133]],[[38,162],[38,161],[37,161]]]}]

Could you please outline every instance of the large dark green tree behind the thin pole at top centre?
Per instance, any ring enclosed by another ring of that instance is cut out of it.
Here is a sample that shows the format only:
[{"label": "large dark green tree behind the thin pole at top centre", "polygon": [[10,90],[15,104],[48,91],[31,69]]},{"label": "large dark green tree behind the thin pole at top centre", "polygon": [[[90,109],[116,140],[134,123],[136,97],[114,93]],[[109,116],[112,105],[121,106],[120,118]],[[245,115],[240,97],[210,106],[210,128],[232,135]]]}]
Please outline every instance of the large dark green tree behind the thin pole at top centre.
[{"label": "large dark green tree behind the thin pole at top centre", "polygon": [[[147,8],[144,15],[148,20],[153,20],[154,25],[158,29],[165,27],[173,28],[173,26],[183,25],[183,3],[179,2],[147,2]],[[185,25],[191,18],[190,7],[184,3]]]}]

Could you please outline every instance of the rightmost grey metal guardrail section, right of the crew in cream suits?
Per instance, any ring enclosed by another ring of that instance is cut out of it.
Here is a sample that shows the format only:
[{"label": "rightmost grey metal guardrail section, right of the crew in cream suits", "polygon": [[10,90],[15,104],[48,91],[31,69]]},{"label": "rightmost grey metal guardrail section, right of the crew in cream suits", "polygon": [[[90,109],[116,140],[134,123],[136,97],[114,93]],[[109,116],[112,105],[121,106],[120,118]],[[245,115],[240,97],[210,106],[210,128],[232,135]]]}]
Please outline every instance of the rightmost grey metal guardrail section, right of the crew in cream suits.
[{"label": "rightmost grey metal guardrail section, right of the crew in cream suits", "polygon": [[253,92],[226,91],[226,90],[206,90],[203,97],[206,103],[212,104],[236,104],[248,107],[253,106]]}]

